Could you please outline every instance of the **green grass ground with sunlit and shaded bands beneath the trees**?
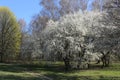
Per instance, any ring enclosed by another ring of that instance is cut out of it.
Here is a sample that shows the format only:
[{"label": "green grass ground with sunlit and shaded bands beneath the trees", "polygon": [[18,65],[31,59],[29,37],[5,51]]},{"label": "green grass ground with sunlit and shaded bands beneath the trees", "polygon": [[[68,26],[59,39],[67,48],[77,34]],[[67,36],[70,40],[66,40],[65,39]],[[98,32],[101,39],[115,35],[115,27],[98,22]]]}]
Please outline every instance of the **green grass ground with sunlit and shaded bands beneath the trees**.
[{"label": "green grass ground with sunlit and shaded bands beneath the trees", "polygon": [[39,64],[0,64],[0,80],[120,80],[120,64],[109,68],[93,66],[89,70],[65,72],[60,62]]}]

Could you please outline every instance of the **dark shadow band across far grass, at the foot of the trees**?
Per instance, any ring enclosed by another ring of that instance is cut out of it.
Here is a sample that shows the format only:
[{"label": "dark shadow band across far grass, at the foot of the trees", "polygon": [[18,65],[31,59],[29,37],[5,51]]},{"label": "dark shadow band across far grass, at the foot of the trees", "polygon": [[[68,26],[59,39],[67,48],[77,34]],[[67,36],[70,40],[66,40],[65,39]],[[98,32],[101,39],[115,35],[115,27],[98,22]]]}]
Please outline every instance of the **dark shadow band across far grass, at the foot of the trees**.
[{"label": "dark shadow band across far grass, at the foot of the trees", "polygon": [[[117,67],[106,67],[101,68],[99,65],[93,65],[89,68],[89,70],[112,70],[112,71],[118,71],[120,70],[120,66]],[[53,72],[53,73],[65,73],[64,65],[59,64],[53,64],[53,65],[46,65],[46,64],[5,64],[0,63],[0,71],[6,71],[6,72]],[[68,72],[76,72],[80,70],[70,70]]]}]

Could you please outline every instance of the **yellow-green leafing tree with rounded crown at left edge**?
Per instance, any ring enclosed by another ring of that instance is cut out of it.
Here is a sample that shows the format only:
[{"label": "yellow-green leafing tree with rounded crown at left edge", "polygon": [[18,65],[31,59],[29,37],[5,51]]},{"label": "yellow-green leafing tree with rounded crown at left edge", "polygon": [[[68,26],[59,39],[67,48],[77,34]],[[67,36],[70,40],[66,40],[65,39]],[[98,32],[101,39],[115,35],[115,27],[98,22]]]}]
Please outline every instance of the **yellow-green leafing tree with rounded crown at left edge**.
[{"label": "yellow-green leafing tree with rounded crown at left edge", "polygon": [[0,50],[4,58],[16,57],[20,51],[20,27],[7,7],[0,7]]}]

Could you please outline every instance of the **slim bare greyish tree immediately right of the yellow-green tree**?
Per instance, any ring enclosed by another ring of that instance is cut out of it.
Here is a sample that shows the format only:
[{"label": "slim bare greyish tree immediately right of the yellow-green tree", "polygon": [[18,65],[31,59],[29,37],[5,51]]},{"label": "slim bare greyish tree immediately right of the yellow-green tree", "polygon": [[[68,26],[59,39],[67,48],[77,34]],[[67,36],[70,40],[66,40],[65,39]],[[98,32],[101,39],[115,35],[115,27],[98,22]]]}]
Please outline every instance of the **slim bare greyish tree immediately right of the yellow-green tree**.
[{"label": "slim bare greyish tree immediately right of the yellow-green tree", "polygon": [[18,23],[21,30],[21,48],[20,48],[19,59],[24,60],[25,62],[27,60],[31,60],[32,50],[33,50],[33,41],[32,41],[33,39],[29,29],[27,28],[25,20],[19,19]]}]

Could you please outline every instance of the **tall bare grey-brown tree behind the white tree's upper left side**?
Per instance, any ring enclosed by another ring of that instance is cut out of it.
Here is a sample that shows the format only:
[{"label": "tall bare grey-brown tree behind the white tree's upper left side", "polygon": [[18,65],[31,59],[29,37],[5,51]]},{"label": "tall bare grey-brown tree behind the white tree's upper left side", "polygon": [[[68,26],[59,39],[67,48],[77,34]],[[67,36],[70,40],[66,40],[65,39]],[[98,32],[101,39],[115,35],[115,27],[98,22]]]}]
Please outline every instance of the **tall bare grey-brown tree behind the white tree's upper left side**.
[{"label": "tall bare grey-brown tree behind the white tree's upper left side", "polygon": [[37,15],[33,16],[30,23],[34,34],[43,30],[48,20],[57,20],[59,18],[59,7],[57,5],[58,0],[41,0],[40,6],[42,10]]}]

